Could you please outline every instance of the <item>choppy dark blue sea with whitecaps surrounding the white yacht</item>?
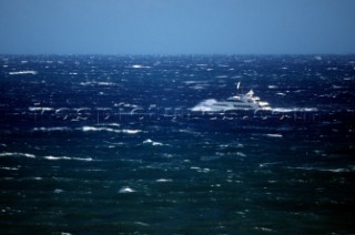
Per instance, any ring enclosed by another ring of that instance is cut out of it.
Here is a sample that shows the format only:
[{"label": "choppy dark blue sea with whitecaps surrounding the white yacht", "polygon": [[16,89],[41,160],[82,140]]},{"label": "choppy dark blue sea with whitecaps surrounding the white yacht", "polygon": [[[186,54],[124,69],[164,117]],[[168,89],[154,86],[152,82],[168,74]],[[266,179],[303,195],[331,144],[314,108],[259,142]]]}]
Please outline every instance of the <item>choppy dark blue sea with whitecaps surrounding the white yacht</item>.
[{"label": "choppy dark blue sea with whitecaps surrounding the white yacht", "polygon": [[355,55],[0,55],[0,234],[354,234],[354,132]]}]

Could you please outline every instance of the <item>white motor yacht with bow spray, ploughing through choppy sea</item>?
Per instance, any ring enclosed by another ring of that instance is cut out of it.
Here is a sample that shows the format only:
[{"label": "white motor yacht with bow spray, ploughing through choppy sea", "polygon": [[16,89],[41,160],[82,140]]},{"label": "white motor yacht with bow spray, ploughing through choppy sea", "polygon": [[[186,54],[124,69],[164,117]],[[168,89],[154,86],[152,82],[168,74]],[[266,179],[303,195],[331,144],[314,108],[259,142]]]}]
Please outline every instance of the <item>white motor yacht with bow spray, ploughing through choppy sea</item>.
[{"label": "white motor yacht with bow spray, ploughing through choppy sea", "polygon": [[239,110],[271,110],[267,102],[261,101],[260,98],[254,96],[253,90],[245,94],[236,94],[223,101],[206,100],[192,109],[192,111],[206,112],[225,112]]}]

